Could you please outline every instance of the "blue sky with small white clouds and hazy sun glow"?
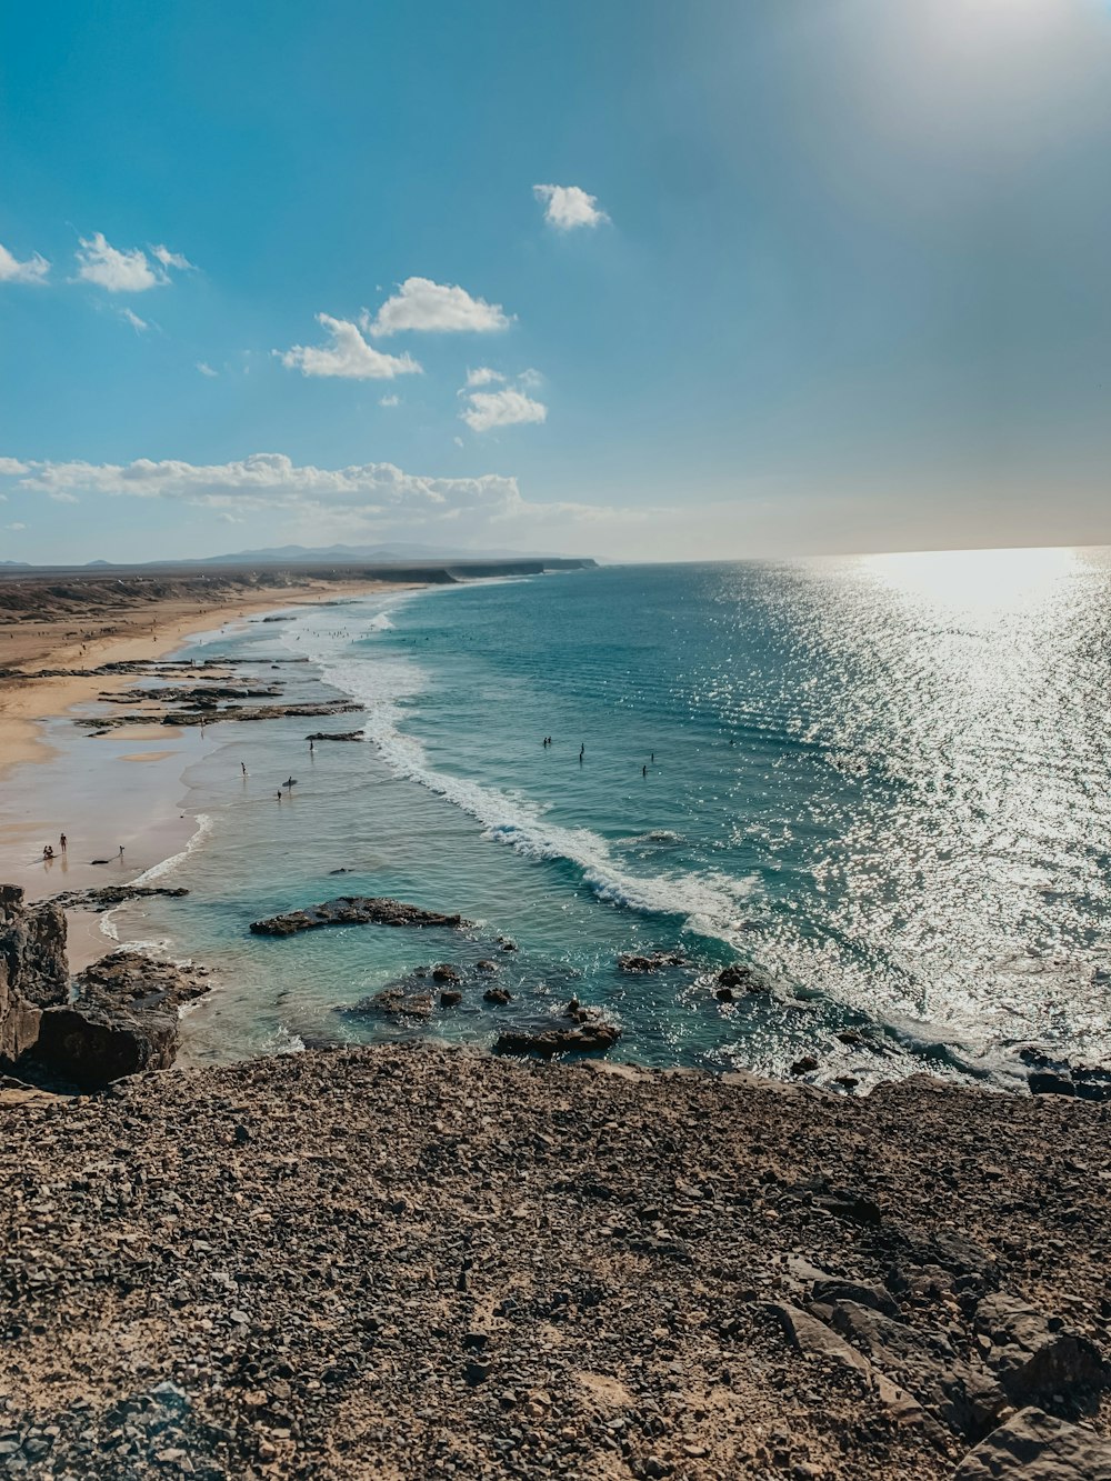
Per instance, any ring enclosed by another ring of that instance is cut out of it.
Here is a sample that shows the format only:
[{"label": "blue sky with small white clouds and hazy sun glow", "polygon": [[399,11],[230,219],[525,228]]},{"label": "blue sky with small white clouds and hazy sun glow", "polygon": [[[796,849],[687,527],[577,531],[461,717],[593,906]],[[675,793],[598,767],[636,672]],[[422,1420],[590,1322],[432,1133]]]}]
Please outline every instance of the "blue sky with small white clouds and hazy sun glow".
[{"label": "blue sky with small white clouds and hazy sun glow", "polygon": [[1111,542],[1108,0],[0,13],[0,560]]}]

